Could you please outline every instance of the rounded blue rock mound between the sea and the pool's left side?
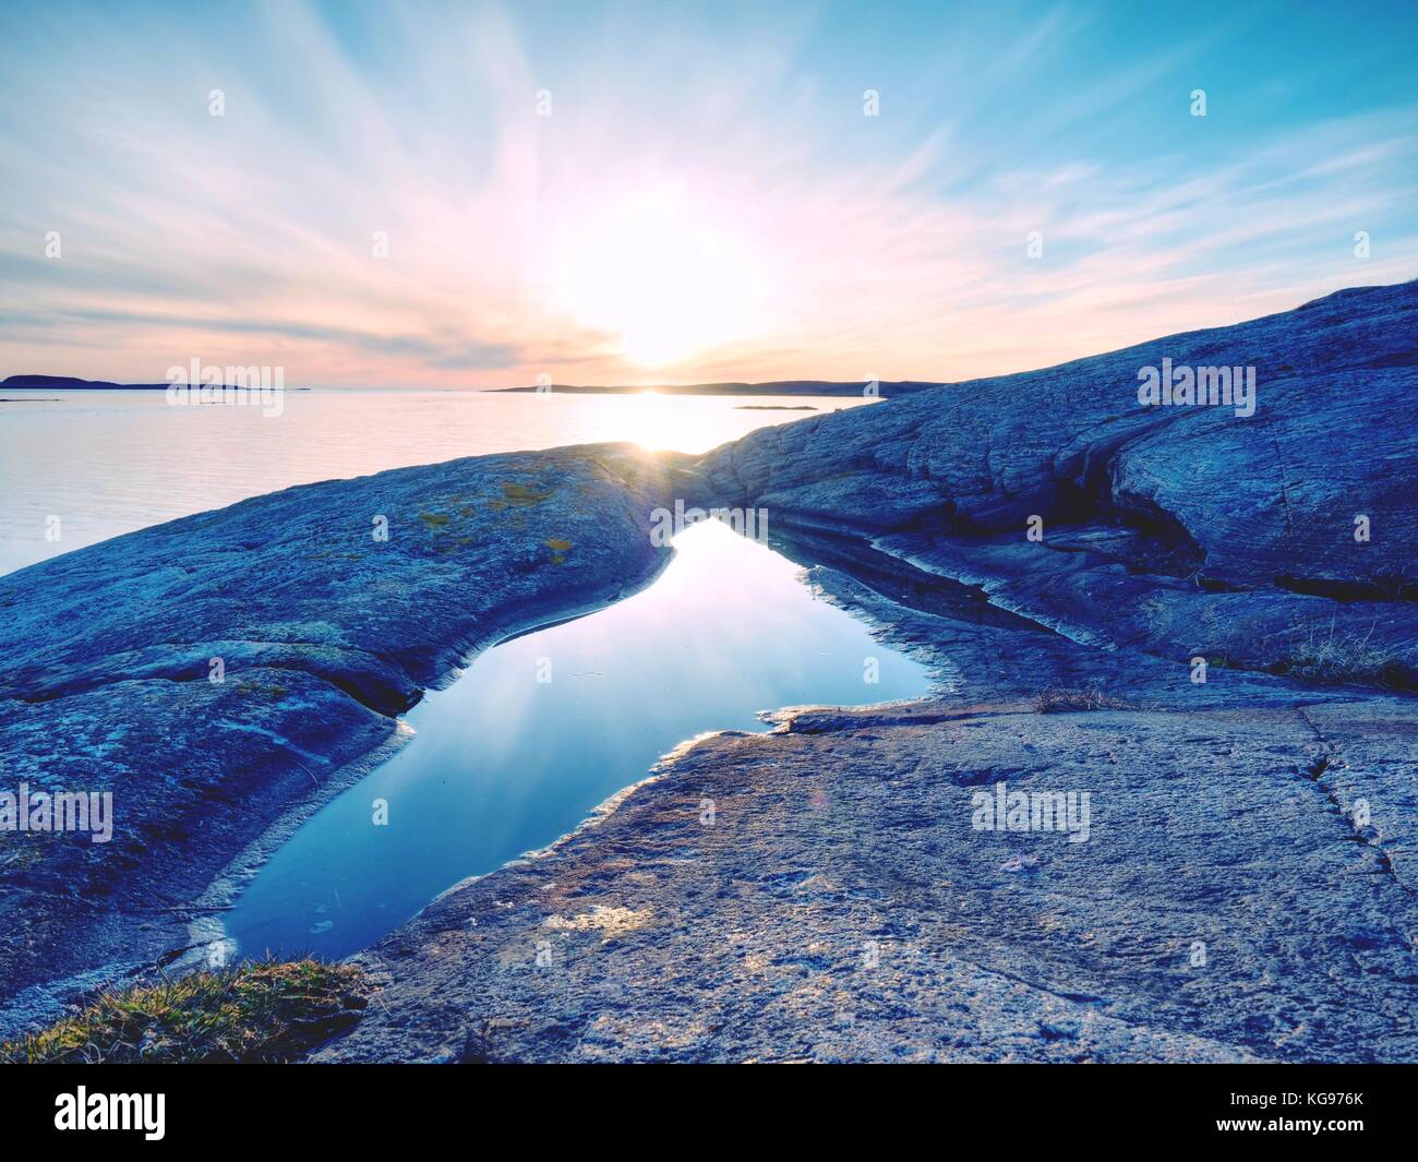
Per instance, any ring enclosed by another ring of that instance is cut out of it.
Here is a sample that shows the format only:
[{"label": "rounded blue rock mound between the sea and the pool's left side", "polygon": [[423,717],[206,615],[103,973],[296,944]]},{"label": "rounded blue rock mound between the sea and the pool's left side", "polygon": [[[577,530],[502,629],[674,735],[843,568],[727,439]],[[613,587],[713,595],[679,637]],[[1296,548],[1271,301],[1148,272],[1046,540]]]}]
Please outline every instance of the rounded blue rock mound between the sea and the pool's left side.
[{"label": "rounded blue rock mound between the sea and the pool's left side", "polygon": [[472,653],[644,585],[676,472],[627,446],[457,460],[0,577],[4,789],[112,792],[115,814],[109,843],[0,837],[9,1024],[184,942],[228,860],[339,790]]}]

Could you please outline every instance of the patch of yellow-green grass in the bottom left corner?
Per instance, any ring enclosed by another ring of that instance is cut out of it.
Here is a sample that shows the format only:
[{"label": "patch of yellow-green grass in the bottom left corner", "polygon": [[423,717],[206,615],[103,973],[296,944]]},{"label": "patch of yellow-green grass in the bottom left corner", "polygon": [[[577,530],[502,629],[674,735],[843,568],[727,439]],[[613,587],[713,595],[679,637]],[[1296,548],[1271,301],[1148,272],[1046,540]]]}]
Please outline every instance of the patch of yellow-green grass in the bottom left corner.
[{"label": "patch of yellow-green grass in the bottom left corner", "polygon": [[104,993],[48,1029],[0,1044],[0,1063],[289,1061],[359,1020],[363,973],[261,961]]}]

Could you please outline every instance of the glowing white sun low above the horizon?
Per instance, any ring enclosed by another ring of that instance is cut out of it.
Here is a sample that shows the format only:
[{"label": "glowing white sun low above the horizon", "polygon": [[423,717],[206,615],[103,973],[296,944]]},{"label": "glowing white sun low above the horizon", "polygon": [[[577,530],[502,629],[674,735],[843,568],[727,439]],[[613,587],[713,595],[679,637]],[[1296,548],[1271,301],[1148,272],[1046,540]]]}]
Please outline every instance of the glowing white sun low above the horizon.
[{"label": "glowing white sun low above the horizon", "polygon": [[645,367],[683,363],[761,326],[763,258],[702,200],[644,189],[580,217],[559,247],[553,295]]}]

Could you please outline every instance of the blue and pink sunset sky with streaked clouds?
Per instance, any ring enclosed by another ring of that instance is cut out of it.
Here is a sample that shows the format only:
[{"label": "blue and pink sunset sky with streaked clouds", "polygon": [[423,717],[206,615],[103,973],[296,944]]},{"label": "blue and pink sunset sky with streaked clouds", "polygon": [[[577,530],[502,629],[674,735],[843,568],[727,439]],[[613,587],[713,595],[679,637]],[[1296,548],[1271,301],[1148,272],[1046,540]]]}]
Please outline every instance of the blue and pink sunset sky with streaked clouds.
[{"label": "blue and pink sunset sky with streaked clouds", "polygon": [[1046,366],[1418,277],[1415,61],[1407,0],[0,0],[0,376]]}]

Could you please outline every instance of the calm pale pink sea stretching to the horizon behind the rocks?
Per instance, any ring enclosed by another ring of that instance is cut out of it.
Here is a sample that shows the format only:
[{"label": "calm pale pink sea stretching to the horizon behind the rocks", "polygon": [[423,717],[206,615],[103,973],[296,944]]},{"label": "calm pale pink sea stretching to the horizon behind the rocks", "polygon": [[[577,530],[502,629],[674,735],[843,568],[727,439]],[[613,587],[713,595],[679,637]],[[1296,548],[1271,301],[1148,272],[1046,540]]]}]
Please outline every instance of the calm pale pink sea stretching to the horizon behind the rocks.
[{"label": "calm pale pink sea stretching to the horizon behind the rocks", "polygon": [[[170,407],[163,392],[6,392],[0,573],[292,484],[459,455],[628,440],[708,451],[861,399],[288,392],[258,407]],[[814,406],[811,411],[743,404]],[[58,518],[58,539],[47,539]]]}]

